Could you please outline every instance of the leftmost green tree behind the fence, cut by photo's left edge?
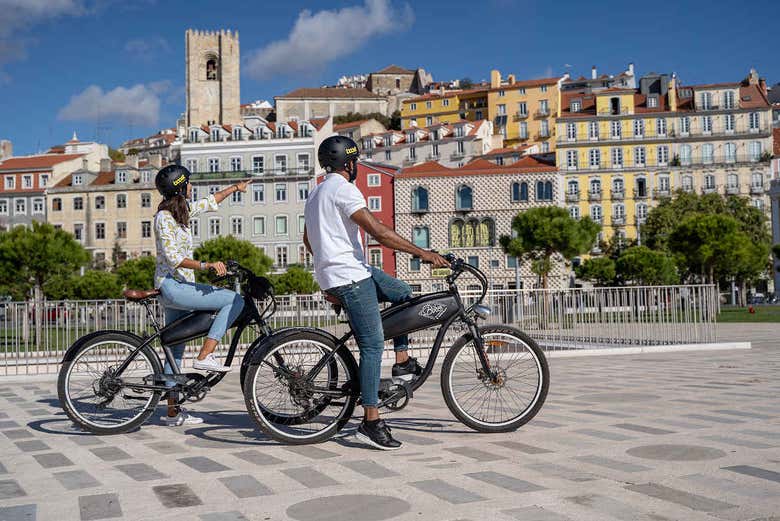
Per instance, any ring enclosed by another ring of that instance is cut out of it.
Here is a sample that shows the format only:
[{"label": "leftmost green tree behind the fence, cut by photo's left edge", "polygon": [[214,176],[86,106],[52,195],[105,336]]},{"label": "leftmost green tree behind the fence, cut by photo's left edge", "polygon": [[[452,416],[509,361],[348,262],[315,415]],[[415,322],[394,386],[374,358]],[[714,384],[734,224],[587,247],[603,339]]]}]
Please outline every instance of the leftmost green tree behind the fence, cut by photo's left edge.
[{"label": "leftmost green tree behind the fence, cut by photo's left edge", "polygon": [[51,224],[33,222],[32,229],[0,233],[0,285],[15,299],[31,290],[39,299],[47,280],[71,275],[87,262],[89,253],[81,244]]}]

